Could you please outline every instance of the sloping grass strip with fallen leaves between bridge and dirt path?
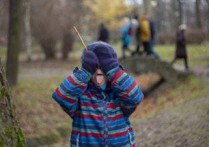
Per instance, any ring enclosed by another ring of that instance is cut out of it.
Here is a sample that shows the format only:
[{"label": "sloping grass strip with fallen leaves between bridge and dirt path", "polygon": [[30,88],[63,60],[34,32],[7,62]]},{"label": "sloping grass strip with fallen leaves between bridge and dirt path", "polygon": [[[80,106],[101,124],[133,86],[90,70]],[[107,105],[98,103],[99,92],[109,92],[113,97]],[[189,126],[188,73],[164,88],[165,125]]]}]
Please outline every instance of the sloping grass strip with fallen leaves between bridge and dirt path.
[{"label": "sloping grass strip with fallen leaves between bridge and dirt path", "polygon": [[[143,115],[143,117],[140,118],[140,121],[146,122],[150,118],[155,117],[159,111],[164,110],[166,108],[173,107],[191,101],[193,99],[198,99],[207,96],[208,91],[208,82],[191,75],[181,83],[176,83],[171,87],[169,86],[167,88],[164,88],[163,90],[161,90],[161,94],[158,94],[158,96],[154,99],[148,99],[148,101],[147,99],[145,99],[144,101],[146,101],[146,103],[142,103],[139,109],[137,109],[140,113],[144,113],[143,109],[147,108],[147,105],[149,105],[150,102],[150,104],[154,103],[152,104],[154,106],[152,107],[152,109],[147,110],[149,111],[149,113]],[[136,124],[138,120],[138,117],[131,118],[131,121],[134,124]]]}]

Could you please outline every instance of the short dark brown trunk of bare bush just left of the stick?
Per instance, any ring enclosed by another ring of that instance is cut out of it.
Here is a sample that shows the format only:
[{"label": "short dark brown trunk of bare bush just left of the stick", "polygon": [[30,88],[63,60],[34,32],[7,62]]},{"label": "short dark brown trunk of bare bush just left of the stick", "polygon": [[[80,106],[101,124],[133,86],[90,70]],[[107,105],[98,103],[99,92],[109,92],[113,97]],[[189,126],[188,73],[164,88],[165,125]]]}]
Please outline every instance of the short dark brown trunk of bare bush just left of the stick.
[{"label": "short dark brown trunk of bare bush just left of the stick", "polygon": [[74,38],[72,32],[64,34],[63,47],[62,47],[62,59],[65,60],[68,57],[68,53],[73,49]]}]

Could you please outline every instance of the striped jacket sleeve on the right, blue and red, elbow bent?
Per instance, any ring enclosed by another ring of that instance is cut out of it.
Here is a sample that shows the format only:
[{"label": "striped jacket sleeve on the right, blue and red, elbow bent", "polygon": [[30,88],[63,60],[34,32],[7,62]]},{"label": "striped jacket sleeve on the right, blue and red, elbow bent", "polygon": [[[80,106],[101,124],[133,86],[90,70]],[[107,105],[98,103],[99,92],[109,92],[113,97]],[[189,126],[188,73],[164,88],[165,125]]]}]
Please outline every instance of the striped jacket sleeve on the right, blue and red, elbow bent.
[{"label": "striped jacket sleeve on the right, blue and red, elbow bent", "polygon": [[141,88],[136,84],[135,79],[120,67],[110,70],[107,77],[119,98],[123,113],[130,116],[144,97]]}]

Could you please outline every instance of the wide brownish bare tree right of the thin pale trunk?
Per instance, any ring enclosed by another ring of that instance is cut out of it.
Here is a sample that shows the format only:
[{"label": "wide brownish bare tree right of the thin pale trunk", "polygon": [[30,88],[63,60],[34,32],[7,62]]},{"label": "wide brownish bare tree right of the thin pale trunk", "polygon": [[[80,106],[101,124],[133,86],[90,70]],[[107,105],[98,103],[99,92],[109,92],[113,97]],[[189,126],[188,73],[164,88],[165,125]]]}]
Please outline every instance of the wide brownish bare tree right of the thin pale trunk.
[{"label": "wide brownish bare tree right of the thin pale trunk", "polygon": [[58,6],[56,0],[32,1],[33,36],[41,45],[46,59],[55,57],[55,45],[61,33]]}]

